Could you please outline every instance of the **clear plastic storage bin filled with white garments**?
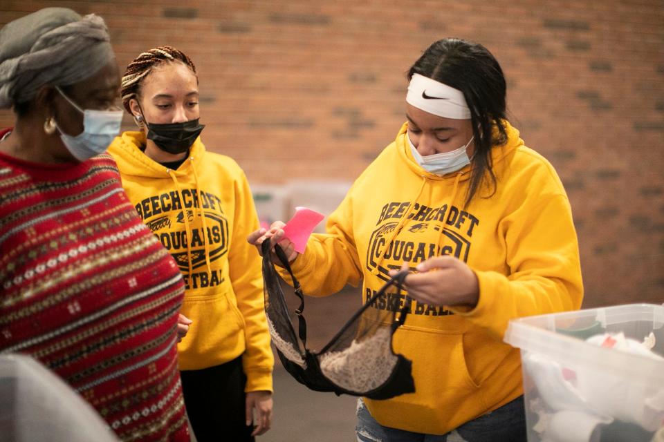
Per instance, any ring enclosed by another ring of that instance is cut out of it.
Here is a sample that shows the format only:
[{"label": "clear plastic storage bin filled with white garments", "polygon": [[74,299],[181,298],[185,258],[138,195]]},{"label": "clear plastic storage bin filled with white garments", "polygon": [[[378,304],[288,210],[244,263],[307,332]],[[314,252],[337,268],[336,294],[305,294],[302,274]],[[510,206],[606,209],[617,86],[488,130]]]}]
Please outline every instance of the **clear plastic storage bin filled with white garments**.
[{"label": "clear plastic storage bin filled with white garments", "polygon": [[[624,336],[638,352],[611,348],[607,336]],[[519,318],[504,340],[521,349],[528,442],[650,442],[661,434],[664,306]]]}]

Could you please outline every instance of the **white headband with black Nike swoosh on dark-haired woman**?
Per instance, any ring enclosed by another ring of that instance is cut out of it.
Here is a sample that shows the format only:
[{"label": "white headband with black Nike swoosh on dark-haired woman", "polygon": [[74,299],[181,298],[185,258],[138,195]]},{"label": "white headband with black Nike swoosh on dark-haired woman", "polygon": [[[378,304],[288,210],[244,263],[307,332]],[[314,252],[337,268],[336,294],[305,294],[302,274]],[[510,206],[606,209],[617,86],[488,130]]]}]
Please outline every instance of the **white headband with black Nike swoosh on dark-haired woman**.
[{"label": "white headband with black Nike swoosh on dark-haired woman", "polygon": [[424,75],[413,74],[406,102],[439,117],[470,119],[470,108],[463,92]]}]

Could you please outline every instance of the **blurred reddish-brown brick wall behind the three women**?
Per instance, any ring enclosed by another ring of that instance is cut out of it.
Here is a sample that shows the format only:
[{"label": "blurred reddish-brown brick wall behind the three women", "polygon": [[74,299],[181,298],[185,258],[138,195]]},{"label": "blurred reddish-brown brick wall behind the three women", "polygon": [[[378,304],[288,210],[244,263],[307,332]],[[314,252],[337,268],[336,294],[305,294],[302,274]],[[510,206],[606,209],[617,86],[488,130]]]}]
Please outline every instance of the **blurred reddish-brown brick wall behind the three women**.
[{"label": "blurred reddish-brown brick wall behind the three women", "polygon": [[163,44],[190,55],[206,145],[262,184],[352,180],[394,140],[421,51],[479,41],[569,193],[584,307],[664,302],[662,0],[3,0],[0,23],[45,6],[102,15],[122,68]]}]

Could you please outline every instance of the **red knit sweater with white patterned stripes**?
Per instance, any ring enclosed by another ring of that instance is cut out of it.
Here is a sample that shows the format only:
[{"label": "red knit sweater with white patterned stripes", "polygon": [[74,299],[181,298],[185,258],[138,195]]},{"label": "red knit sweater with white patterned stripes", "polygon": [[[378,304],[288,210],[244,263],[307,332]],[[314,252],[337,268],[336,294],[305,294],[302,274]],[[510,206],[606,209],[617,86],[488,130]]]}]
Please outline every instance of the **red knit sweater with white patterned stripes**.
[{"label": "red knit sweater with white patterned stripes", "polygon": [[183,280],[119,179],[107,155],[48,166],[0,154],[0,352],[44,363],[124,441],[189,441]]}]

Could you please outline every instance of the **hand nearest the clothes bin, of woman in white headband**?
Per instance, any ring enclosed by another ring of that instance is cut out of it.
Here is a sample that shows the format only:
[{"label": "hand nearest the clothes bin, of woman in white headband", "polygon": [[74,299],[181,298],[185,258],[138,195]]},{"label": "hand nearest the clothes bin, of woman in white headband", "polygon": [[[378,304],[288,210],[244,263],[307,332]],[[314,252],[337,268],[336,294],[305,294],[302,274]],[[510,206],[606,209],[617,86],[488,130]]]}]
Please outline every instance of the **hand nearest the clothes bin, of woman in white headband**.
[{"label": "hand nearest the clothes bin, of woman in white headband", "polygon": [[[408,263],[404,262],[401,269],[409,269]],[[479,282],[465,262],[443,255],[420,262],[415,269],[417,273],[409,273],[404,281],[411,298],[436,306],[477,305]]]}]

